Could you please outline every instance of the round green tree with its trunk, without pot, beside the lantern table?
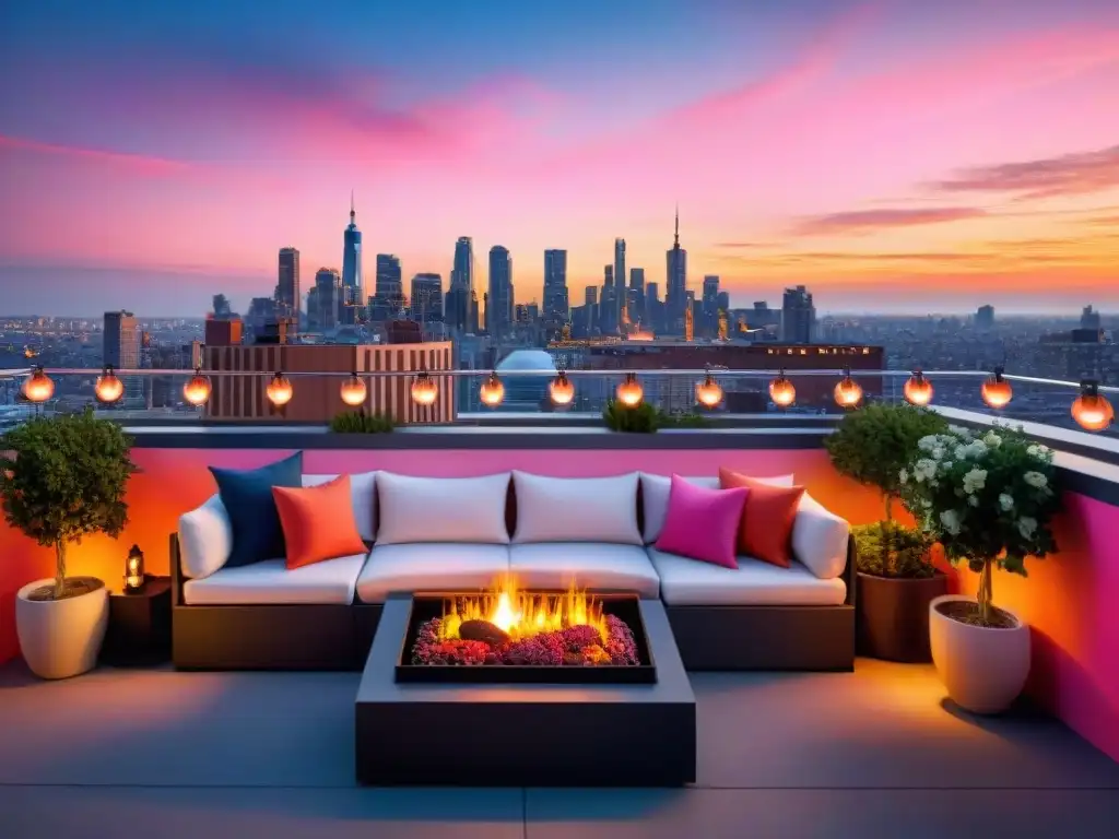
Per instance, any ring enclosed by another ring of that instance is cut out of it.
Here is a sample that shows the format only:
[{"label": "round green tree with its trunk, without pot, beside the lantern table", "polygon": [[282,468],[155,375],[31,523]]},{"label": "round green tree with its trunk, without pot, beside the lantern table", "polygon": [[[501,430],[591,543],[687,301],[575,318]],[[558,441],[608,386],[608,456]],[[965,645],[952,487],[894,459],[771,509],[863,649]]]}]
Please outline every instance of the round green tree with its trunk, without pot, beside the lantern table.
[{"label": "round green tree with its trunk, without pot, beside the lantern table", "polygon": [[66,549],[92,534],[121,535],[129,520],[124,493],[137,471],[131,445],[120,425],[97,420],[91,408],[36,417],[0,437],[4,519],[55,549],[54,590],[39,598],[62,600],[88,590],[66,579]]}]

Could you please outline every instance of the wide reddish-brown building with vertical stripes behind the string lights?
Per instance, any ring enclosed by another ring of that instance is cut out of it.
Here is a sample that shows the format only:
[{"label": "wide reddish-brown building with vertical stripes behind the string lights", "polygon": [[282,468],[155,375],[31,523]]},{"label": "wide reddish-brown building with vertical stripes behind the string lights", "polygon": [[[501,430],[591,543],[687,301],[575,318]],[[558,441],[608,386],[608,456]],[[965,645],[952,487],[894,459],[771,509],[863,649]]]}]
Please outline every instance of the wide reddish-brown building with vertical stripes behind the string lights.
[{"label": "wide reddish-brown building with vertical stripes behind the string lights", "polygon": [[386,373],[427,370],[439,386],[434,405],[416,405],[411,396],[410,376],[373,376],[364,409],[393,417],[402,425],[449,423],[454,420],[452,348],[440,343],[396,345],[254,345],[206,347],[208,370],[236,370],[244,375],[215,376],[214,393],[206,405],[209,420],[253,422],[286,420],[326,423],[355,408],[341,400],[342,376],[292,376],[293,395],[283,413],[272,408],[266,389],[275,371],[298,373]]}]

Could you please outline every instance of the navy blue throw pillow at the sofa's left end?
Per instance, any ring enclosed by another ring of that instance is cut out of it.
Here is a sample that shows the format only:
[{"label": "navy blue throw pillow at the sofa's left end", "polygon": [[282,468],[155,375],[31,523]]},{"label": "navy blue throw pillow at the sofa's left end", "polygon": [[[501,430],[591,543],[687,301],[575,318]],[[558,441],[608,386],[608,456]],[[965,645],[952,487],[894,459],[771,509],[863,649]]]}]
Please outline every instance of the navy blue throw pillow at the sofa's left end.
[{"label": "navy blue throw pillow at the sofa's left end", "polygon": [[282,559],[288,550],[272,488],[303,484],[303,453],[260,469],[210,466],[210,472],[233,526],[233,550],[226,566]]}]

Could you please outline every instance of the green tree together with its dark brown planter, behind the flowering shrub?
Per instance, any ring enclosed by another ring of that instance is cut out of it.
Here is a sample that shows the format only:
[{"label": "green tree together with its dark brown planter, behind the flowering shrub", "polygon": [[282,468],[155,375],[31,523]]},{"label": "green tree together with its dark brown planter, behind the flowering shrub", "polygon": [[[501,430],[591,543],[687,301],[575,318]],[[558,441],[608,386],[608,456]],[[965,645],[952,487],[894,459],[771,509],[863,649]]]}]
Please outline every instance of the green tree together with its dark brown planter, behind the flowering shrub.
[{"label": "green tree together with its dark brown planter, behind the flowering shrub", "polygon": [[847,414],[826,446],[841,474],[877,489],[884,518],[852,530],[856,545],[855,626],[863,656],[929,661],[929,604],[948,591],[932,567],[932,539],[894,520],[900,475],[918,441],[947,431],[944,420],[908,403],[876,403]]}]

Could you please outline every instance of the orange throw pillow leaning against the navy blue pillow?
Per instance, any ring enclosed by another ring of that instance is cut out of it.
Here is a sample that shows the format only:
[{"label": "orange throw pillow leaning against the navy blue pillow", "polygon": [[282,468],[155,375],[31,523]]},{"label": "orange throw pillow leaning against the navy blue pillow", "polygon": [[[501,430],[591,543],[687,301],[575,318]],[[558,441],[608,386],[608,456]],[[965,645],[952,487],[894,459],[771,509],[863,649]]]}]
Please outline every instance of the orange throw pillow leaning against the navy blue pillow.
[{"label": "orange throw pillow leaning against the navy blue pillow", "polygon": [[318,487],[273,487],[272,496],[288,546],[289,571],[366,553],[354,520],[349,475],[338,475]]}]

